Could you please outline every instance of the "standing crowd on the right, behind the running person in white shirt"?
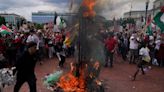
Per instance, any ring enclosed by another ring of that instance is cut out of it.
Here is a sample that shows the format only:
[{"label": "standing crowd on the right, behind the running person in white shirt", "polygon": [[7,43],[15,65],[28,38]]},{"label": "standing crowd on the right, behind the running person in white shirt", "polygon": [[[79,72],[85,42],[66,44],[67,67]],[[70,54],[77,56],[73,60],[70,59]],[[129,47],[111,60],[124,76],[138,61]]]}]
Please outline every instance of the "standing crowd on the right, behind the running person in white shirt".
[{"label": "standing crowd on the right, behind the running person in white shirt", "polygon": [[162,33],[154,31],[153,35],[149,35],[140,31],[131,32],[125,29],[122,32],[108,32],[108,34],[104,38],[107,57],[110,56],[109,53],[117,52],[124,61],[129,61],[129,64],[136,64],[140,59],[140,49],[146,45],[151,57],[150,65],[164,66],[164,39]]}]

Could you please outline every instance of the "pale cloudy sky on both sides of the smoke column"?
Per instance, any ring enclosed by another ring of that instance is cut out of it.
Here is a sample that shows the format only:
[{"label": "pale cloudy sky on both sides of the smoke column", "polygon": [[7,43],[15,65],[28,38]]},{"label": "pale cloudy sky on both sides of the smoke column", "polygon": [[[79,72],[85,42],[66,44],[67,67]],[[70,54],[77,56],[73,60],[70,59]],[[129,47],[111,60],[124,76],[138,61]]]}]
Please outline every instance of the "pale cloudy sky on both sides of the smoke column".
[{"label": "pale cloudy sky on both sides of the smoke column", "polygon": [[[56,11],[59,13],[70,12],[71,0],[0,0],[0,13],[15,13],[24,16],[31,21],[32,12]],[[75,2],[77,0],[74,0]],[[80,1],[80,0],[78,0]],[[150,0],[149,9],[153,6]],[[123,17],[124,12],[131,10],[145,10],[146,0],[97,0],[96,7],[99,7],[99,14],[107,19]],[[75,8],[77,3],[73,4]]]}]

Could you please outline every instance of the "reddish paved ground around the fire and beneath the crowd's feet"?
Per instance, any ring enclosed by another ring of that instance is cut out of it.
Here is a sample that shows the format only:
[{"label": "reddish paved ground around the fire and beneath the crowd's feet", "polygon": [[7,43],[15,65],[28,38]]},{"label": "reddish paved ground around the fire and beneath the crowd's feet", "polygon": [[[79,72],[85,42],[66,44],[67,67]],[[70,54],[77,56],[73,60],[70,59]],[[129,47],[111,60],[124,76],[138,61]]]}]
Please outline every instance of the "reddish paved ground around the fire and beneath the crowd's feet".
[{"label": "reddish paved ground around the fire and beneath the crowd's feet", "polygon": [[[69,63],[74,58],[67,58],[64,71],[69,70]],[[43,64],[36,65],[37,92],[51,92],[43,85],[42,78],[57,69],[56,58],[46,59]],[[164,92],[164,68],[152,66],[146,75],[139,74],[136,81],[131,81],[131,75],[136,71],[135,64],[129,64],[120,57],[114,58],[114,67],[102,68],[100,79],[103,80],[105,92]],[[14,85],[5,87],[3,92],[13,92]],[[25,83],[20,92],[29,92]]]}]

